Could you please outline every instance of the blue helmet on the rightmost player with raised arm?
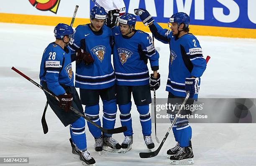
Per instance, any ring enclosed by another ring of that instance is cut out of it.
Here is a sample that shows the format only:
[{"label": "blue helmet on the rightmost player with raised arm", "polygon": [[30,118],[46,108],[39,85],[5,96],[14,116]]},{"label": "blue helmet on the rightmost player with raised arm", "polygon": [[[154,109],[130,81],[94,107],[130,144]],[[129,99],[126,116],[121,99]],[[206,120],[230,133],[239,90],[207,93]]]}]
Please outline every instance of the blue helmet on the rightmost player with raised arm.
[{"label": "blue helmet on the rightmost player with raised arm", "polygon": [[189,16],[184,12],[177,12],[173,14],[172,17],[170,17],[170,23],[177,23],[178,26],[184,23],[185,28],[189,26],[189,21],[190,21]]}]

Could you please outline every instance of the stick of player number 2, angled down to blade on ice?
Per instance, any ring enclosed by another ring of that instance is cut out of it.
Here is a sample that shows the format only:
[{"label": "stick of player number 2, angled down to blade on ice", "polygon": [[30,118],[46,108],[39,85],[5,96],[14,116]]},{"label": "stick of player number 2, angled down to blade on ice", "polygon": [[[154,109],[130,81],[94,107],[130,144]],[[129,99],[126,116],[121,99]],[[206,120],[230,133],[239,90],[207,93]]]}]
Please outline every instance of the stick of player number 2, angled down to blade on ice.
[{"label": "stick of player number 2, angled down to blade on ice", "polygon": [[167,136],[169,135],[169,133],[170,133],[170,131],[171,131],[173,125],[176,123],[176,121],[177,121],[177,119],[178,119],[178,116],[179,116],[179,114],[180,114],[180,111],[182,110],[182,107],[184,107],[184,105],[185,105],[185,103],[187,102],[187,99],[188,99],[188,98],[189,98],[189,92],[187,92],[187,96],[186,96],[186,98],[184,99],[184,101],[183,101],[183,103],[182,103],[182,106],[179,108],[179,111],[177,112],[176,117],[174,118],[174,120],[173,120],[171,126],[169,127],[167,133],[165,134],[164,139],[162,140],[160,146],[156,149],[156,151],[152,151],[152,152],[148,152],[148,153],[141,152],[141,153],[140,153],[140,157],[141,157],[141,158],[150,158],[150,157],[154,157],[154,156],[156,156],[156,155],[159,153],[159,151],[161,150],[162,146],[164,145],[164,142],[165,142],[165,140],[167,139]]}]

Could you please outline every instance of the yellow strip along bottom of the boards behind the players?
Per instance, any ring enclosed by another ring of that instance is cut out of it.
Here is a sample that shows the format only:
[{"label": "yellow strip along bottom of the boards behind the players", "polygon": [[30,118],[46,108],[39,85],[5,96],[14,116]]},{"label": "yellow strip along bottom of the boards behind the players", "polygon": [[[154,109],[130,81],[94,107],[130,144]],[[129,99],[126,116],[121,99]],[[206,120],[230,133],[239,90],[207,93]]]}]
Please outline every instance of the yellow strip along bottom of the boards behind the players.
[{"label": "yellow strip along bottom of the boards behind the players", "polygon": [[[34,25],[49,25],[55,26],[59,22],[67,23],[72,20],[71,17],[53,17],[41,15],[21,15],[0,13],[0,22],[18,23],[18,24],[34,24]],[[81,24],[90,23],[88,18],[76,18],[74,27]],[[167,23],[159,23],[161,27],[168,28]],[[220,37],[239,37],[239,38],[256,38],[256,29],[234,28],[234,27],[213,27],[205,25],[189,25],[191,33],[194,35],[204,36],[220,36]],[[142,22],[136,23],[136,29],[149,32],[149,28],[145,27]]]}]

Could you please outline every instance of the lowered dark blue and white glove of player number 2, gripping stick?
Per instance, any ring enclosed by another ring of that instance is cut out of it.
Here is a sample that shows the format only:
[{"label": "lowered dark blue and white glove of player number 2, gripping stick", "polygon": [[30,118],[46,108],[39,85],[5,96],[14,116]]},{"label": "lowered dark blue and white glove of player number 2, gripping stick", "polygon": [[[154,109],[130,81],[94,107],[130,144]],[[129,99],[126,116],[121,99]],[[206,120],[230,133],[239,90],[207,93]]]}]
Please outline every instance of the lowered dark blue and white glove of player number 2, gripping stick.
[{"label": "lowered dark blue and white glove of player number 2, gripping stick", "polygon": [[189,98],[193,98],[199,92],[199,78],[186,78],[185,89],[189,92]]}]

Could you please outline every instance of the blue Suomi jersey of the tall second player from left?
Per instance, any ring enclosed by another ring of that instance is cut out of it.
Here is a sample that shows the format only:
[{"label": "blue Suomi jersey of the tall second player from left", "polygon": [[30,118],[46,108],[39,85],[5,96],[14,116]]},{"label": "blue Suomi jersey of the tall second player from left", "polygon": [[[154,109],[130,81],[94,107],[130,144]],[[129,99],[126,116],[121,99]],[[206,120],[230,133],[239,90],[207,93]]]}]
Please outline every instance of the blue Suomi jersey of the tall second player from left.
[{"label": "blue Suomi jersey of the tall second player from left", "polygon": [[[90,53],[94,62],[76,64],[75,87],[82,89],[105,89],[115,84],[115,73],[111,64],[112,32],[106,25],[99,32],[92,31],[89,24],[79,25],[69,42],[72,53],[81,47]],[[82,43],[82,45],[81,45]]]}]

